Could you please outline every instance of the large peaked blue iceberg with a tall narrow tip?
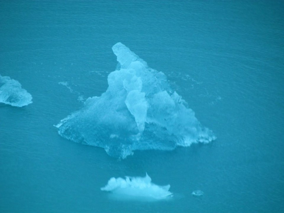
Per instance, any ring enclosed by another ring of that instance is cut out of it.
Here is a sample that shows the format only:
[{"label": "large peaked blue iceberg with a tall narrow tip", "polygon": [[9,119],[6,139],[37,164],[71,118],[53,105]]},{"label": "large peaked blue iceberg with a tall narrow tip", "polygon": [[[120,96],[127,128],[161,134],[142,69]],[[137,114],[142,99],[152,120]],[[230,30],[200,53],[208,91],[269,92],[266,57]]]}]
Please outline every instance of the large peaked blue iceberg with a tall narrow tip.
[{"label": "large peaked blue iceberg with a tall narrow tip", "polygon": [[56,125],[62,137],[119,158],[134,150],[173,150],[215,139],[172,91],[163,72],[148,67],[122,43],[112,50],[119,64],[108,76],[109,87]]}]

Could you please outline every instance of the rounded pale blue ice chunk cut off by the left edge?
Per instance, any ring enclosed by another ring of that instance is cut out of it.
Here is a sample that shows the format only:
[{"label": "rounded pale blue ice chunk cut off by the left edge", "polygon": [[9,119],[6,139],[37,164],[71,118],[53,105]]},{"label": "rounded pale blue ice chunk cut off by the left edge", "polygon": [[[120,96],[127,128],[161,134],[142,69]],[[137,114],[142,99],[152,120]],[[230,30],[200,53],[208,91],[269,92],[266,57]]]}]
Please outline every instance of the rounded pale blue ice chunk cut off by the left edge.
[{"label": "rounded pale blue ice chunk cut off by the left edge", "polygon": [[19,81],[0,75],[0,103],[22,107],[33,103],[32,99]]}]

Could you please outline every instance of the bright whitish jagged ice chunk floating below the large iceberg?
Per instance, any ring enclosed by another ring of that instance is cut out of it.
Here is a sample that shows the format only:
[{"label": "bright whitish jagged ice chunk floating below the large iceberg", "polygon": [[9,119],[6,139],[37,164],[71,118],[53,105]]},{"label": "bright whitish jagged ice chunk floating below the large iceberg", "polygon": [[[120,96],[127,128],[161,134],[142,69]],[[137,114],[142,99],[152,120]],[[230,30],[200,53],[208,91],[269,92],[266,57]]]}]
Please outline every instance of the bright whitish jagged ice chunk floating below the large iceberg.
[{"label": "bright whitish jagged ice chunk floating below the large iceberg", "polygon": [[125,198],[147,197],[151,199],[165,199],[172,195],[169,191],[170,185],[159,186],[151,183],[151,178],[146,173],[145,177],[128,177],[123,178],[111,178],[107,185],[102,187],[102,191],[110,191],[114,194],[125,196]]}]

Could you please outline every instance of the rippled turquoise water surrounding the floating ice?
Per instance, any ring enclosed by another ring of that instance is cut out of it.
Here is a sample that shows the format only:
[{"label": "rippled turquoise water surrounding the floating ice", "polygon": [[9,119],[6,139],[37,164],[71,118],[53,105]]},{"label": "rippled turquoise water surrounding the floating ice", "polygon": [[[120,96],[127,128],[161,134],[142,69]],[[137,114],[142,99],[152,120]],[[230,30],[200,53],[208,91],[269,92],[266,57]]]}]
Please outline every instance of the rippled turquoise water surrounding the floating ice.
[{"label": "rippled turquoise water surrounding the floating ice", "polygon": [[[33,103],[0,104],[0,211],[283,212],[283,8],[1,1],[0,75],[19,81]],[[118,160],[62,138],[54,125],[106,91],[117,42],[162,71],[217,139]],[[100,190],[111,177],[145,172],[170,184],[173,197],[117,200]]]}]

